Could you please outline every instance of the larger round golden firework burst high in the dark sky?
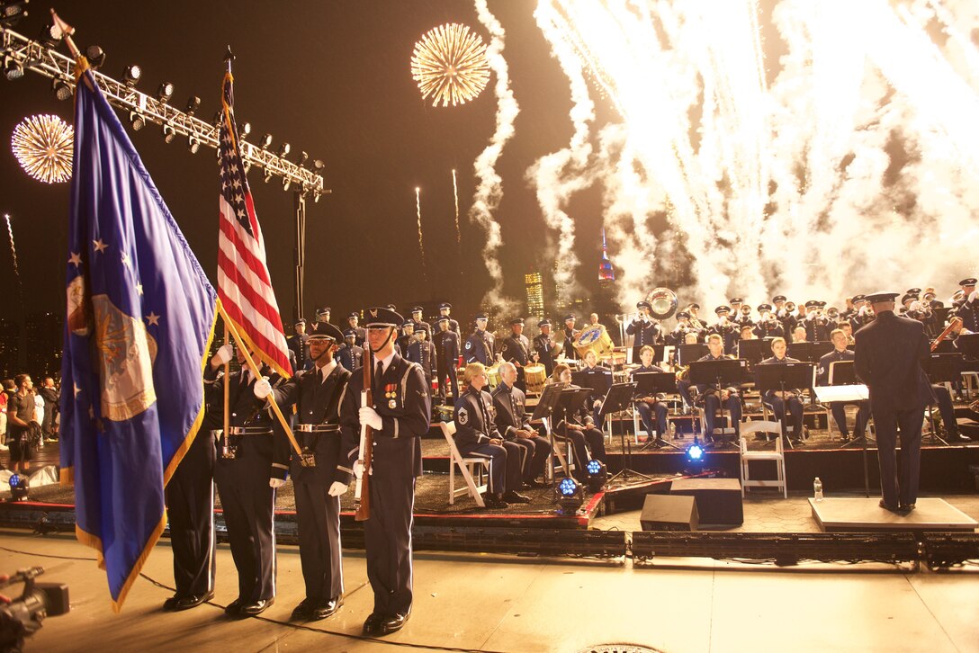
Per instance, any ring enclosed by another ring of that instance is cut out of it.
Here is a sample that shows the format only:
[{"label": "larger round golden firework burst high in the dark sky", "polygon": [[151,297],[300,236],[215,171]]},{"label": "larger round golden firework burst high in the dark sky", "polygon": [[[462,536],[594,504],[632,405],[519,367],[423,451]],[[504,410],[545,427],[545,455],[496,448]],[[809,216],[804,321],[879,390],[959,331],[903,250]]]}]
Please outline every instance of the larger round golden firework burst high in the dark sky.
[{"label": "larger round golden firework burst high in the dark sky", "polygon": [[480,35],[459,23],[430,29],[415,43],[411,76],[422,98],[433,96],[432,106],[454,107],[475,99],[489,82],[487,46]]}]

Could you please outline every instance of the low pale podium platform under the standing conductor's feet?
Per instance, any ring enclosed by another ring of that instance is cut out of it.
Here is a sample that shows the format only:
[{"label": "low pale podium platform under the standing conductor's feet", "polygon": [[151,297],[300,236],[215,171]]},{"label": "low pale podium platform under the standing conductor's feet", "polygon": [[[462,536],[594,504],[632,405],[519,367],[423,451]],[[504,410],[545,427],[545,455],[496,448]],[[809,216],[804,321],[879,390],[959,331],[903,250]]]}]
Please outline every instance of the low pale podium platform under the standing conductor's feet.
[{"label": "low pale podium platform under the standing conductor's feet", "polygon": [[826,533],[895,533],[959,531],[972,533],[979,523],[948,501],[937,497],[917,500],[916,508],[899,515],[878,505],[872,498],[810,498],[813,518]]}]

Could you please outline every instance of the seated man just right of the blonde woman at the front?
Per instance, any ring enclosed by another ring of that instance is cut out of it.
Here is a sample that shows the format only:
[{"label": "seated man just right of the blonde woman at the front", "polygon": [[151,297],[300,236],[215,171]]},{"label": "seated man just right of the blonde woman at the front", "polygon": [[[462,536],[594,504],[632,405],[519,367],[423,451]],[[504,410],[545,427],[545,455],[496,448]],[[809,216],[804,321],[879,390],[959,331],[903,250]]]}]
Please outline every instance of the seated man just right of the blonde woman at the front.
[{"label": "seated man just right of the blonde woman at the front", "polygon": [[527,397],[522,390],[514,387],[517,382],[517,368],[514,364],[500,363],[499,378],[500,384],[492,391],[496,430],[506,442],[516,443],[524,448],[521,456],[524,487],[540,488],[542,484],[537,483],[536,479],[544,471],[547,455],[551,450],[550,443],[531,428],[525,411]]}]

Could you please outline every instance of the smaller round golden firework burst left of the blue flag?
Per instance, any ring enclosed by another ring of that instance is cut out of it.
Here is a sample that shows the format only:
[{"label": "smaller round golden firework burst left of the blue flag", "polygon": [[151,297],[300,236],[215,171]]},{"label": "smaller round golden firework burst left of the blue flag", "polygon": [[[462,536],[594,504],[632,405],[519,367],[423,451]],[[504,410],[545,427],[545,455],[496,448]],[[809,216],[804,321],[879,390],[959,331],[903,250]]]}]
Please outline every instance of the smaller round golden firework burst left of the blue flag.
[{"label": "smaller round golden firework burst left of the blue flag", "polygon": [[71,178],[74,129],[60,117],[25,117],[10,142],[14,156],[34,179],[54,184]]}]

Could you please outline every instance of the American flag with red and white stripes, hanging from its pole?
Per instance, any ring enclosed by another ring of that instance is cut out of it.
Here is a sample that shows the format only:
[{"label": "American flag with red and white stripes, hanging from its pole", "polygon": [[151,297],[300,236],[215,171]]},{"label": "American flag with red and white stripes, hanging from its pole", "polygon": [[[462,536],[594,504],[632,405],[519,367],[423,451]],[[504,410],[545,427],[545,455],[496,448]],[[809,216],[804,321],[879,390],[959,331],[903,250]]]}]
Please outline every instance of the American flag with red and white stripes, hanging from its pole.
[{"label": "American flag with red and white stripes, hanging from its pole", "polygon": [[291,374],[286,335],[265,264],[252,191],[242,164],[234,117],[233,78],[229,70],[221,85],[221,194],[217,236],[217,297],[242,339],[259,358],[283,376]]}]

